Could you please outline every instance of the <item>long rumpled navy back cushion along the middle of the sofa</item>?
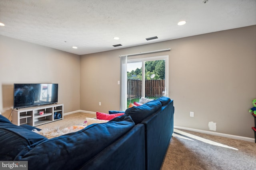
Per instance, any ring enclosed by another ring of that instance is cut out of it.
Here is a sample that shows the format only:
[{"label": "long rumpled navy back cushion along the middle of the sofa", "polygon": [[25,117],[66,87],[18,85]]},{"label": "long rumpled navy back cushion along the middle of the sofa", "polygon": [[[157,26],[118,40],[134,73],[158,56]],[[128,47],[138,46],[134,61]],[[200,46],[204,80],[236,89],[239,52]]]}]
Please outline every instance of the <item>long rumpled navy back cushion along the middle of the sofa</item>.
[{"label": "long rumpled navy back cushion along the middle of the sofa", "polygon": [[[116,117],[107,123],[86,128],[27,147],[16,160],[28,160],[30,169],[80,169],[83,164],[125,135],[134,127],[129,115]],[[40,154],[38,154],[40,153]],[[40,166],[38,166],[40,164]]]}]

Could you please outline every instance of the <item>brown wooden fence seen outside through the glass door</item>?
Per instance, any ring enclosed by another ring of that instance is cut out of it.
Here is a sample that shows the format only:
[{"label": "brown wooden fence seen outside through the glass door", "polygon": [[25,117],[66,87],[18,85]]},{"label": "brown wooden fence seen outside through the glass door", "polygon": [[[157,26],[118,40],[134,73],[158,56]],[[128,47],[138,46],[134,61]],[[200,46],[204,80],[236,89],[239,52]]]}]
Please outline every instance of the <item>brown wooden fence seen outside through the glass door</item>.
[{"label": "brown wooden fence seen outside through the glass door", "polygon": [[[164,91],[164,80],[145,80],[145,97],[159,98]],[[132,100],[141,98],[142,81],[128,79],[127,81],[127,99]]]}]

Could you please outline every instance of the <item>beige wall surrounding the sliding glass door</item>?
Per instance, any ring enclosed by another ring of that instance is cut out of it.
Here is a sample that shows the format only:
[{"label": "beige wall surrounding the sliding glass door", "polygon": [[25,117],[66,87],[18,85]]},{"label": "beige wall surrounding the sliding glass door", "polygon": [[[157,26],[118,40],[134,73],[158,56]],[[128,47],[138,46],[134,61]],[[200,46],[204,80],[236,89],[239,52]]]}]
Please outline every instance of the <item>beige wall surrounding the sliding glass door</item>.
[{"label": "beige wall surrounding the sliding glass door", "polygon": [[216,132],[254,138],[248,110],[256,98],[256,25],[83,55],[81,109],[119,109],[119,55],[165,48],[171,51],[137,57],[169,55],[174,125],[209,131],[212,121]]}]

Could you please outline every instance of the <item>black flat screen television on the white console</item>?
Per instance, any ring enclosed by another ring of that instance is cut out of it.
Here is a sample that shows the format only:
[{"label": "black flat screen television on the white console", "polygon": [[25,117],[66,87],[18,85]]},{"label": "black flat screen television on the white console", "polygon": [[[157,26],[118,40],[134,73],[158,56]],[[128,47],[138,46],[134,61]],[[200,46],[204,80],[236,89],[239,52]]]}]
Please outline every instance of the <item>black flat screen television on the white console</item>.
[{"label": "black flat screen television on the white console", "polygon": [[58,102],[58,84],[14,84],[13,108]]}]

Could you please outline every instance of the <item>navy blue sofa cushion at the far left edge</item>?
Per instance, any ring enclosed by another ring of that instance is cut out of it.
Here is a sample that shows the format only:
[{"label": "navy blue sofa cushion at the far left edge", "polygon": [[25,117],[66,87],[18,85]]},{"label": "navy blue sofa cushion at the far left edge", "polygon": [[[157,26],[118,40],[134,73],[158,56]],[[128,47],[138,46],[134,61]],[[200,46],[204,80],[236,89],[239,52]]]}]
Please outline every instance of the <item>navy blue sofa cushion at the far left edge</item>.
[{"label": "navy blue sofa cushion at the far left edge", "polygon": [[34,147],[47,138],[12,123],[0,122],[0,160],[14,160],[27,146]]}]

